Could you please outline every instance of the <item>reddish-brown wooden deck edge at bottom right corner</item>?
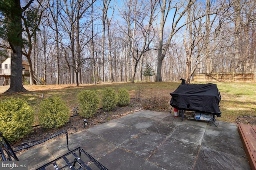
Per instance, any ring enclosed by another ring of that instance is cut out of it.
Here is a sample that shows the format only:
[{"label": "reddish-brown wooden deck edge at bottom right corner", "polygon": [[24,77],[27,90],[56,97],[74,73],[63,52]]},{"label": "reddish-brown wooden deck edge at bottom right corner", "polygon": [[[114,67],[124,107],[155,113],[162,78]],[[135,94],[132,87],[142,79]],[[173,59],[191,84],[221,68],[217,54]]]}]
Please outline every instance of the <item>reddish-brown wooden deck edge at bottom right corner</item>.
[{"label": "reddish-brown wooden deck edge at bottom right corner", "polygon": [[256,170],[256,126],[238,124],[238,132],[251,169]]}]

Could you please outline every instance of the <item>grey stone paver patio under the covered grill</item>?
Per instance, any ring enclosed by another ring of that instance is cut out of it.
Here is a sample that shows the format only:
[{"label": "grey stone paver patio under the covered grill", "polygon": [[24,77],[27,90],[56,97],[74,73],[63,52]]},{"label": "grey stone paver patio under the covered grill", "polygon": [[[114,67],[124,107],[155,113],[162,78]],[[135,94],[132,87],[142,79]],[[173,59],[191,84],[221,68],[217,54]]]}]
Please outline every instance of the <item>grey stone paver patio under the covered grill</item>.
[{"label": "grey stone paver patio under the covered grill", "polygon": [[[68,152],[66,137],[18,155],[29,169]],[[250,170],[236,125],[138,111],[69,135],[110,170]]]}]

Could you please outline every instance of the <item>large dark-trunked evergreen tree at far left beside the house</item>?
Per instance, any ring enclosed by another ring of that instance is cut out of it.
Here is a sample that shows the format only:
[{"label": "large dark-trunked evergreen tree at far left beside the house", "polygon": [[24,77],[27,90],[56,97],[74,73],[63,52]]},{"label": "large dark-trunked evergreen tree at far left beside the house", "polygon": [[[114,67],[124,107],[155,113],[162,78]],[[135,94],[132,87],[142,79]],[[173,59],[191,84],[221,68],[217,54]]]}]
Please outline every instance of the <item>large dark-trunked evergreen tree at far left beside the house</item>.
[{"label": "large dark-trunked evergreen tree at far left beside the house", "polygon": [[9,42],[12,50],[9,93],[26,92],[22,84],[22,13],[34,0],[21,8],[20,0],[0,0],[0,38]]}]

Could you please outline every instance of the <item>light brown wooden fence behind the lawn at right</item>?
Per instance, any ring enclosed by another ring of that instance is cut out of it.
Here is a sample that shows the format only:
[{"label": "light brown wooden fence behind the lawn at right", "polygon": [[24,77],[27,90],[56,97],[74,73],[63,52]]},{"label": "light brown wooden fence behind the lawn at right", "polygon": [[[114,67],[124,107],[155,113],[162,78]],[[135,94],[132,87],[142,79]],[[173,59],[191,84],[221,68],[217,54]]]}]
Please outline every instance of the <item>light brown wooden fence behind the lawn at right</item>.
[{"label": "light brown wooden fence behind the lawn at right", "polygon": [[250,82],[256,83],[256,70],[254,72],[222,72],[208,74],[194,74],[195,82]]}]

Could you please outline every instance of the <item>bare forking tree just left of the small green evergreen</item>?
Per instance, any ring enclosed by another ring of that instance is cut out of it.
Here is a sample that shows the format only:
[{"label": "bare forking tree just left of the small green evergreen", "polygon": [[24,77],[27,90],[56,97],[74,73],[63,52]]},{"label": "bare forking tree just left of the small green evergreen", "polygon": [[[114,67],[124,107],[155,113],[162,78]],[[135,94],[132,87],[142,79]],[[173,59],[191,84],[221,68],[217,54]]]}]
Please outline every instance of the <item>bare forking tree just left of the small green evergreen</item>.
[{"label": "bare forking tree just left of the small green evergreen", "polygon": [[[126,20],[128,33],[127,44],[132,59],[132,77],[134,82],[137,67],[140,59],[149,51],[152,40],[155,36],[153,22],[156,18],[157,0],[150,0],[148,4],[138,0],[129,1],[128,11],[122,12],[122,17]],[[144,11],[148,11],[145,13]],[[133,28],[131,27],[133,24]],[[126,32],[126,29],[123,29]],[[130,61],[129,61],[130,63]],[[128,64],[129,64],[128,63]]]}]

